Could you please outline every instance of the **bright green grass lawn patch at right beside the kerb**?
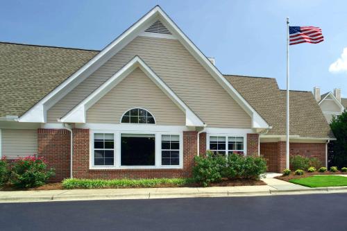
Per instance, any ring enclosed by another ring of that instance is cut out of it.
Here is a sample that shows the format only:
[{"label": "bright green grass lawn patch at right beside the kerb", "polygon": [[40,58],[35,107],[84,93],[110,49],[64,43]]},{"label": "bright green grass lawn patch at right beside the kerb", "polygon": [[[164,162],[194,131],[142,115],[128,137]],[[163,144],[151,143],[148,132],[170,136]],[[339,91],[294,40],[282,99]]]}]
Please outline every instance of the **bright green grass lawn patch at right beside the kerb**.
[{"label": "bright green grass lawn patch at right beside the kerb", "polygon": [[309,176],[307,178],[291,179],[289,182],[311,188],[347,186],[347,177],[344,176]]}]

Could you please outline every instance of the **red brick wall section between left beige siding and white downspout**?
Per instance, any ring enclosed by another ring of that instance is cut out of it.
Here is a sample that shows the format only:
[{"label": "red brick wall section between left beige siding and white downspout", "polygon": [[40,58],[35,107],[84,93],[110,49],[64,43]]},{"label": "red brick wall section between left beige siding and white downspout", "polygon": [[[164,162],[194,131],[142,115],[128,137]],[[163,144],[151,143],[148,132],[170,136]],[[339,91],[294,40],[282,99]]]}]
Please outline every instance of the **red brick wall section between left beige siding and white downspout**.
[{"label": "red brick wall section between left beige siding and white downspout", "polygon": [[70,177],[70,132],[65,129],[37,129],[37,155],[53,167],[56,176],[50,182]]}]

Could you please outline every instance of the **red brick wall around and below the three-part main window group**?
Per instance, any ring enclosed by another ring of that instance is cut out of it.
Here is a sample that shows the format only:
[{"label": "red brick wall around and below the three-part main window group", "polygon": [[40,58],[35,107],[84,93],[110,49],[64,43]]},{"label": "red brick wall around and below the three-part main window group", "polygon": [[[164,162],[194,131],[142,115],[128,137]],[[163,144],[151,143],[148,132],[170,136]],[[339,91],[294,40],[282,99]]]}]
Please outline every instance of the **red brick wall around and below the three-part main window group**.
[{"label": "red brick wall around and below the three-part main window group", "polygon": [[74,178],[177,178],[192,176],[197,153],[197,132],[183,132],[183,169],[108,169],[91,170],[90,135],[87,129],[74,129]]}]

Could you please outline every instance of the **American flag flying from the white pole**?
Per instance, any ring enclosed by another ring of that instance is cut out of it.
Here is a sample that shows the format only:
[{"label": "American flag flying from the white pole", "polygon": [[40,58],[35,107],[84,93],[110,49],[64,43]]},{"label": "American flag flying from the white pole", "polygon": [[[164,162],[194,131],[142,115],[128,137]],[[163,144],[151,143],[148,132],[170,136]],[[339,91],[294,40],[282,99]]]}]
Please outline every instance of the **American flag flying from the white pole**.
[{"label": "American flag flying from the white pole", "polygon": [[322,30],[314,26],[289,26],[289,45],[323,42]]}]

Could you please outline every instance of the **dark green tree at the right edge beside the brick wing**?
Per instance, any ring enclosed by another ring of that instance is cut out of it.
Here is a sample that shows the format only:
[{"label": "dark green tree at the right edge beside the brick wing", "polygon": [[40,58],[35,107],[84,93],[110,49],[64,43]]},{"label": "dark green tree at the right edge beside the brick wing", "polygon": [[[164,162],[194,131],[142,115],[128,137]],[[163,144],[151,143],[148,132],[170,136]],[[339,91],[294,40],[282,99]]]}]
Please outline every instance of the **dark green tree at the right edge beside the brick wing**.
[{"label": "dark green tree at the right edge beside the brick wing", "polygon": [[336,140],[329,144],[329,164],[339,168],[347,166],[347,110],[332,118],[330,128]]}]

